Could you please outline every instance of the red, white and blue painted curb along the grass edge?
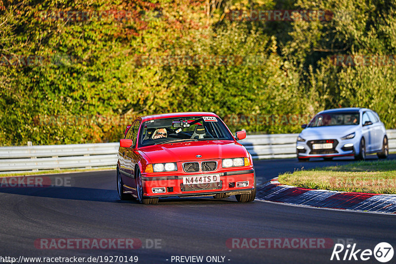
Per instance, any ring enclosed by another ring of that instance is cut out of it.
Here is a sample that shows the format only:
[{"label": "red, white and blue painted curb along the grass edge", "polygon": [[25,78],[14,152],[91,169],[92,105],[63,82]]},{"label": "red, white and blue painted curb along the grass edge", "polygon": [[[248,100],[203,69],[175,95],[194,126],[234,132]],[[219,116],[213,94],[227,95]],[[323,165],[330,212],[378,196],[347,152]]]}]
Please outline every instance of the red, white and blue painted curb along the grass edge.
[{"label": "red, white and blue painted curb along the grass edge", "polygon": [[321,208],[396,214],[396,195],[306,189],[281,185],[277,177],[258,186],[256,199]]}]

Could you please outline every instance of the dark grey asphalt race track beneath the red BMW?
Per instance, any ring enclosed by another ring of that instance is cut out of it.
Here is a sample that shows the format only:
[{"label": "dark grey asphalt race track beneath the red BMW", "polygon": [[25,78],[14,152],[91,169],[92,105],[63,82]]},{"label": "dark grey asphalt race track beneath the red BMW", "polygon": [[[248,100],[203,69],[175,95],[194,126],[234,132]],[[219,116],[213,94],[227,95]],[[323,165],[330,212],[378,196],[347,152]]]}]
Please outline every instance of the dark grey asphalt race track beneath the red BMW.
[{"label": "dark grey asphalt race track beneath the red BMW", "polygon": [[[395,159],[396,155],[390,158]],[[375,160],[376,156],[368,159]],[[254,165],[258,182],[263,182],[301,167],[348,162],[353,161],[350,158],[330,162],[283,159],[255,161]],[[138,256],[138,263],[182,263],[172,261],[172,256],[203,256],[203,263],[207,263],[208,256],[222,256],[224,263],[230,264],[344,263],[330,261],[334,244],[325,249],[238,249],[226,244],[232,238],[326,238],[334,243],[356,243],[356,249],[362,250],[374,250],[378,243],[388,242],[396,249],[396,216],[393,215],[257,200],[241,204],[234,197],[220,201],[209,197],[167,198],[160,199],[157,205],[144,206],[118,199],[115,170],[49,177],[68,183],[62,187],[0,189],[1,257]],[[137,238],[142,241],[142,248],[40,249],[35,241],[41,238]],[[396,256],[390,263],[395,259]],[[365,263],[378,262],[371,256]]]}]

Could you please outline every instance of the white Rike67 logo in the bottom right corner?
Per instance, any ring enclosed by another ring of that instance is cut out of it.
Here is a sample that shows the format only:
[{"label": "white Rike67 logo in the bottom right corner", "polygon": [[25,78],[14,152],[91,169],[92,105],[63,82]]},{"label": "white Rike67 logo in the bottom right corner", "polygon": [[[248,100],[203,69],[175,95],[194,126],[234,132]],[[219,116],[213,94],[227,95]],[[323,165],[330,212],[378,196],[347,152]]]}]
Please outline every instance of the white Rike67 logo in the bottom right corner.
[{"label": "white Rike67 logo in the bottom right corner", "polygon": [[352,246],[350,244],[347,244],[347,246],[344,246],[343,244],[335,244],[330,260],[368,261],[374,256],[377,261],[386,263],[392,260],[393,255],[393,247],[387,242],[378,243],[373,251],[371,249],[356,249],[356,243]]}]

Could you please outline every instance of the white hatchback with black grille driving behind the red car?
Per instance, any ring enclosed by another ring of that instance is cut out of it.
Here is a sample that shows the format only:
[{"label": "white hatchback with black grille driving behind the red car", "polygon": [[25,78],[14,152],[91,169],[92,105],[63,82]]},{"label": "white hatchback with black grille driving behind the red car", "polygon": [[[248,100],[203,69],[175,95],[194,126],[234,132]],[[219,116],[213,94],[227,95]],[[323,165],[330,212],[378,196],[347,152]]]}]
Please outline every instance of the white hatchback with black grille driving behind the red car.
[{"label": "white hatchback with black grille driving behind the red car", "polygon": [[354,156],[364,160],[366,154],[388,157],[389,146],[385,126],[378,114],[367,108],[338,108],[315,115],[297,137],[297,158]]}]

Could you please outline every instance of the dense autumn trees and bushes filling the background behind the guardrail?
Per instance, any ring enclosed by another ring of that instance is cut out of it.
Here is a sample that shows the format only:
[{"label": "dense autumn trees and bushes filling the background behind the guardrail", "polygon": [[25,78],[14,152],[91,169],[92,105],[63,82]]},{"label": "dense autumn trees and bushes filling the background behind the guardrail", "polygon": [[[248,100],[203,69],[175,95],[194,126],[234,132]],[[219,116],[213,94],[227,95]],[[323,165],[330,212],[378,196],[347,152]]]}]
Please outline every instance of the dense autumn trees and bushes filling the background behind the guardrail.
[{"label": "dense autumn trees and bushes filling the background behind the guardrail", "polygon": [[[228,121],[232,115],[313,115],[360,106],[395,128],[395,66],[336,66],[330,59],[395,54],[394,5],[381,0],[0,1],[0,145],[117,141],[138,115],[180,111],[213,111]],[[225,14],[236,9],[323,9],[335,15],[329,21],[230,21]],[[83,21],[51,17],[75,10],[99,13]],[[120,17],[108,10],[127,13]],[[102,11],[107,13],[100,17]],[[232,60],[139,63],[140,56],[195,55]],[[300,130],[300,123],[229,125],[247,132]]]}]

